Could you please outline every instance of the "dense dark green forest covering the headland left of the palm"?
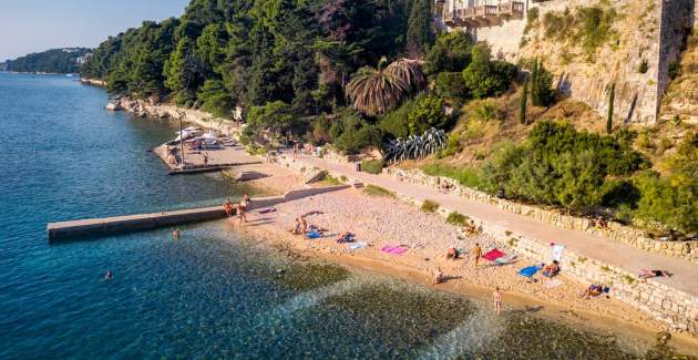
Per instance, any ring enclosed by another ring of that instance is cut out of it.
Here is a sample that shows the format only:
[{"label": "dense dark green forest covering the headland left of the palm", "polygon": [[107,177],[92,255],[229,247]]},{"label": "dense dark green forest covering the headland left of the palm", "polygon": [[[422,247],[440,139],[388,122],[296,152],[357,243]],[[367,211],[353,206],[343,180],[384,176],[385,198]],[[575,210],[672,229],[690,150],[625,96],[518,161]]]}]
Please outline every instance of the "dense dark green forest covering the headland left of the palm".
[{"label": "dense dark green forest covering the headland left of the palm", "polygon": [[103,42],[82,74],[105,79],[113,93],[171,96],[217,114],[274,101],[320,113],[343,103],[356,70],[406,52],[408,21],[424,47],[419,29],[431,24],[411,19],[413,2],[193,0],[179,19]]}]

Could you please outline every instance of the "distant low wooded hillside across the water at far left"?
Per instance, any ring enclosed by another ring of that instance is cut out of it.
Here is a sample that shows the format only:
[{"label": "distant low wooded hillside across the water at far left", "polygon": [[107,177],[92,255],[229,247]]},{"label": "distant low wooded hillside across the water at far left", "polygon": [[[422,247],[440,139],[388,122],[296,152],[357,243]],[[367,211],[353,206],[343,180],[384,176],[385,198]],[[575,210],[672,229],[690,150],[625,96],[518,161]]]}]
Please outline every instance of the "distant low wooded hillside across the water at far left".
[{"label": "distant low wooded hillside across the water at far left", "polygon": [[3,68],[17,72],[74,73],[91,52],[85,48],[52,49],[8,60]]}]

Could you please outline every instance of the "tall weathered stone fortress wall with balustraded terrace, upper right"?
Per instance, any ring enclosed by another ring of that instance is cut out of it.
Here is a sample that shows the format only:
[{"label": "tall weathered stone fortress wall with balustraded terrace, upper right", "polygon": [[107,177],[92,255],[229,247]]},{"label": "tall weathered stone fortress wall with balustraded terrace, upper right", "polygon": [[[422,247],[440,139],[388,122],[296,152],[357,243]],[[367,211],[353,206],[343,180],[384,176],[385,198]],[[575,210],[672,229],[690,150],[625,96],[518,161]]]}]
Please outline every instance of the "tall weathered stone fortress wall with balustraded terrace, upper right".
[{"label": "tall weathered stone fortress wall with balustraded terrace, upper right", "polygon": [[[610,39],[593,58],[543,31],[547,13],[574,16],[588,7],[615,13]],[[680,60],[696,19],[695,0],[435,0],[435,11],[441,27],[486,41],[500,59],[541,59],[561,91],[602,115],[615,84],[617,122],[643,125],[657,122],[669,66]]]}]

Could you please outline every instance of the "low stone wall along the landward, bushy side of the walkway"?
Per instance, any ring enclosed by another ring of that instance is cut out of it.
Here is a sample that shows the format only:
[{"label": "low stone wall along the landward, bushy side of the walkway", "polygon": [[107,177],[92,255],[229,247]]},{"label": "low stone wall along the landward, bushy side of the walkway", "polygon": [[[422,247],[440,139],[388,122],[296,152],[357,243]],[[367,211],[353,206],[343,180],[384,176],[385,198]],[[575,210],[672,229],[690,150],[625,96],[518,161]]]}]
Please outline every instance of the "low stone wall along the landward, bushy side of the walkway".
[{"label": "low stone wall along the landward, bushy side of the walkway", "polygon": [[[420,184],[432,188],[440,188],[445,193],[479,203],[494,205],[501,209],[528,216],[548,225],[591,233],[604,236],[608,239],[622,241],[645,251],[658,253],[671,257],[682,258],[698,264],[698,241],[659,241],[647,237],[645,232],[609,222],[608,229],[598,229],[594,222],[587,218],[560,214],[536,206],[517,204],[511,200],[497,198],[484,192],[463,186],[458,181],[449,177],[430,176],[419,169],[386,168],[384,173],[406,183]],[[443,185],[446,185],[445,187]]]}]

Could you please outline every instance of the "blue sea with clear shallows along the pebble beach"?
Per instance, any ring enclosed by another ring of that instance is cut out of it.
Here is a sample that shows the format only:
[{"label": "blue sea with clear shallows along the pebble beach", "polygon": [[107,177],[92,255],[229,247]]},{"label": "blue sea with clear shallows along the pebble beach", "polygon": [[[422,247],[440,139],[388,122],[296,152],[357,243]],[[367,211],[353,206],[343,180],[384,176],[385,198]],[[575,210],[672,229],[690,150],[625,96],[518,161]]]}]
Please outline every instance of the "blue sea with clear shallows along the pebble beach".
[{"label": "blue sea with clear shallows along the pebble beach", "polygon": [[[637,359],[647,340],[320,260],[216,223],[49,243],[51,222],[220,204],[168,176],[176,124],[75,78],[0,73],[0,359]],[[113,277],[105,280],[105,272]]]}]

